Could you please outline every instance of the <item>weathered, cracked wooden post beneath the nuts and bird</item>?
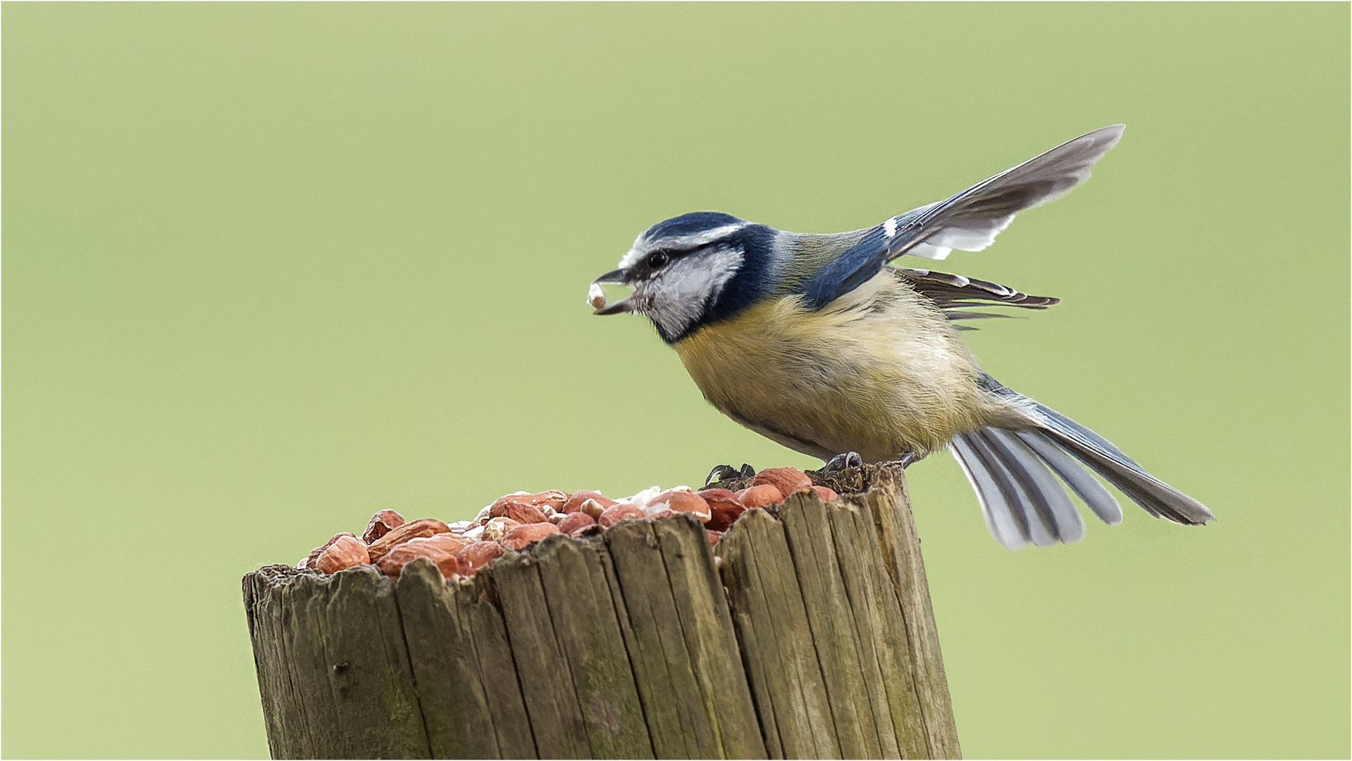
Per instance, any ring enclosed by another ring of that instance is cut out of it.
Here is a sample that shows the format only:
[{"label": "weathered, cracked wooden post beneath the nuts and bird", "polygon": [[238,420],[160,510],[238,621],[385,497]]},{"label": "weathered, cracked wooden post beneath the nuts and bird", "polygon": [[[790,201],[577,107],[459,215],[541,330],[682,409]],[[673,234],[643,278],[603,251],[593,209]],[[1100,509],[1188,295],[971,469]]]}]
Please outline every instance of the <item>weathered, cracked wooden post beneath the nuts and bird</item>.
[{"label": "weathered, cracked wooden post beneath the nuts and bird", "polygon": [[[845,483],[842,483],[842,480]],[[957,758],[899,469],[553,534],[446,580],[243,580],[274,758]]]}]

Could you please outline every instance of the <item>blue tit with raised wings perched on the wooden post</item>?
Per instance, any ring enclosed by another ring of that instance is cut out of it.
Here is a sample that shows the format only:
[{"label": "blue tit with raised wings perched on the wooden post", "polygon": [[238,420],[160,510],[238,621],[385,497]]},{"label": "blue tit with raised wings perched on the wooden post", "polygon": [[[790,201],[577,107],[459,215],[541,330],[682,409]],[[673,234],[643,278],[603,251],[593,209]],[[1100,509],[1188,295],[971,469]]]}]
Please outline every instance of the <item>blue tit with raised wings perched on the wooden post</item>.
[{"label": "blue tit with raised wings perched on the wooden post", "polygon": [[[592,283],[588,301],[599,315],[648,316],[714,407],[829,468],[909,465],[950,449],[1006,547],[1084,535],[1057,476],[1105,523],[1119,523],[1122,510],[1091,472],[1156,518],[1206,523],[1214,515],[1202,503],[1090,428],[1000,385],[959,337],[960,320],[1005,316],[972,308],[1045,310],[1057,299],[890,264],[990,246],[1015,214],[1087,180],[1122,130],[1088,132],[948,200],[850,232],[684,214],[645,230],[619,268]],[[607,303],[602,284],[634,291]]]}]

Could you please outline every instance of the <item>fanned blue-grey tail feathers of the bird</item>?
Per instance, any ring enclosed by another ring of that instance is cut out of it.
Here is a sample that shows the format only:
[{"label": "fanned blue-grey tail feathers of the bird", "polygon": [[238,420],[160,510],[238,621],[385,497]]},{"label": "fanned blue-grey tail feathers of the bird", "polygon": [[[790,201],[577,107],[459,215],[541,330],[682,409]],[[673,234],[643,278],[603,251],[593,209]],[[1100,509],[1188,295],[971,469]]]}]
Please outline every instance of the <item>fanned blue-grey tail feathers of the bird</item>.
[{"label": "fanned blue-grey tail feathers of the bird", "polygon": [[1188,524],[1215,519],[1206,506],[1151,476],[1111,442],[1065,415],[990,376],[983,378],[983,387],[1013,401],[1029,423],[1019,430],[968,431],[952,442],[987,527],[1006,547],[1042,547],[1084,537],[1084,520],[1053,473],[1109,524],[1122,522],[1122,508],[1090,472],[1156,518]]}]

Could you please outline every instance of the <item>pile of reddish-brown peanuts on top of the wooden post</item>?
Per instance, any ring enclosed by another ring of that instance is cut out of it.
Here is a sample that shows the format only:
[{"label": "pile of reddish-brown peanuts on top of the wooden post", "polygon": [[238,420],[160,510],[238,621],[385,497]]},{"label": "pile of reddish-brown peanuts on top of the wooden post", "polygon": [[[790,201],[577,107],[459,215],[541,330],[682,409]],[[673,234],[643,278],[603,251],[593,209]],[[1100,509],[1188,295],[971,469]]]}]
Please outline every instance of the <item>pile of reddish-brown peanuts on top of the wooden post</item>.
[{"label": "pile of reddish-brown peanuts on top of the wooden post", "polygon": [[426,557],[448,579],[468,577],[504,551],[521,551],[550,534],[580,537],[604,531],[629,518],[661,518],[676,512],[698,518],[713,545],[742,511],[777,504],[803,489],[815,489],[822,501],[836,499],[836,492],[814,487],[811,478],[796,468],[768,468],[740,492],[719,488],[696,492],[690,487],[662,491],[653,487],[622,499],[588,491],[516,492],[483,508],[473,520],[456,523],[442,523],[435,518],[407,522],[393,510],[381,510],[370,518],[361,537],[346,531],[337,534],[315,547],[296,568],[335,573],[353,565],[372,564],[385,576],[397,579],[404,564]]}]

